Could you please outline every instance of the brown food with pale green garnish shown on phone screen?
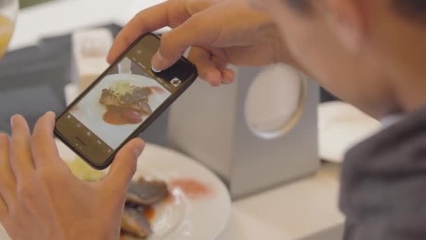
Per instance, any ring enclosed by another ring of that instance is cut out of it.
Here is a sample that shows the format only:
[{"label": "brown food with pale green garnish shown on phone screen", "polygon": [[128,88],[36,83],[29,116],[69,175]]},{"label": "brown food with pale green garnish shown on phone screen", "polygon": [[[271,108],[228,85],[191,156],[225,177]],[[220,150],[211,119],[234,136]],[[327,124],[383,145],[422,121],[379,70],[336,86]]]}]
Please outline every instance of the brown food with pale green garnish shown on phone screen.
[{"label": "brown food with pale green garnish shown on phone screen", "polygon": [[125,81],[103,89],[99,103],[107,107],[104,121],[114,125],[142,122],[143,116],[152,113],[149,97],[153,93],[151,87],[139,87]]}]

